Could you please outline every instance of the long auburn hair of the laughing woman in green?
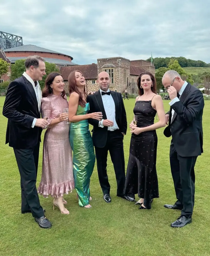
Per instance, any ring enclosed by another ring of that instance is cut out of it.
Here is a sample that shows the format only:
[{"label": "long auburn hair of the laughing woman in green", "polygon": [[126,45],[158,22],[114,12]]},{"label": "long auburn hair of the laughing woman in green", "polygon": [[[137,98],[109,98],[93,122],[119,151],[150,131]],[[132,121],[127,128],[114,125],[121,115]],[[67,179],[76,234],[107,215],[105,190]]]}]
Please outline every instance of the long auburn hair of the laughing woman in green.
[{"label": "long auburn hair of the laughing woman in green", "polygon": [[[69,74],[68,83],[69,83],[69,95],[71,95],[72,92],[76,92],[79,94],[79,105],[82,107],[85,107],[86,102],[83,100],[83,93],[78,90],[78,87],[76,86],[76,78],[75,78],[75,72],[80,72],[79,70],[74,70]],[[82,74],[83,75],[83,74]],[[85,78],[84,78],[85,80]],[[85,99],[87,99],[87,93],[85,92],[85,86],[84,86],[84,95]]]}]

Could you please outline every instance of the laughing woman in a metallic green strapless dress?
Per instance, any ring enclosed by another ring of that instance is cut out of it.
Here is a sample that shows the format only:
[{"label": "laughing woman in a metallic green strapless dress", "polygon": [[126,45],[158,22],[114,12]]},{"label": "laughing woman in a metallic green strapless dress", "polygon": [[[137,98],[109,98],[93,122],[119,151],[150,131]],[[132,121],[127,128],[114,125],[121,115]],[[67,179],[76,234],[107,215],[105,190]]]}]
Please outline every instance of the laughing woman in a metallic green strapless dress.
[{"label": "laughing woman in a metallic green strapless dress", "polygon": [[73,150],[73,174],[79,206],[90,208],[90,177],[95,164],[92,137],[87,119],[98,121],[102,113],[90,113],[86,102],[85,78],[80,71],[73,71],[68,78],[69,83],[69,140]]}]

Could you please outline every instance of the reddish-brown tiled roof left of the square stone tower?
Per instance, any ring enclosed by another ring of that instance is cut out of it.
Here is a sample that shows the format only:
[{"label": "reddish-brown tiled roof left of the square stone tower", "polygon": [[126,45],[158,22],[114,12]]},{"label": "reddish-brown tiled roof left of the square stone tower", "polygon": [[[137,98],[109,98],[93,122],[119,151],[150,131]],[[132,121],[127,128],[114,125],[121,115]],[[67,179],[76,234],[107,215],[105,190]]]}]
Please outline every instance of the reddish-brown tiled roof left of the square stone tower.
[{"label": "reddish-brown tiled roof left of the square stone tower", "polygon": [[97,64],[77,65],[77,66],[62,67],[60,69],[60,73],[63,77],[63,80],[68,80],[69,74],[74,70],[81,71],[85,79],[97,79],[97,76],[98,76]]}]

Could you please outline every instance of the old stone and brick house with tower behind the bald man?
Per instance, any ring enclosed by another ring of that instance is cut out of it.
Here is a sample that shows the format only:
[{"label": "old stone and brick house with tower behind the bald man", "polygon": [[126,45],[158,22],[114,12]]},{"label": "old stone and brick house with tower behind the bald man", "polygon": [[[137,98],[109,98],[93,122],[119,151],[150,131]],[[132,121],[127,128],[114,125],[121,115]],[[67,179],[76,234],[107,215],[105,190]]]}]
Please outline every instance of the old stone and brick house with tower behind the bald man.
[{"label": "old stone and brick house with tower behind the bald man", "polygon": [[124,93],[137,93],[137,78],[143,71],[150,71],[155,73],[155,67],[145,60],[128,60],[121,57],[97,59],[97,64],[78,65],[62,67],[60,73],[65,82],[65,90],[68,93],[68,76],[74,71],[79,70],[83,73],[87,93],[97,91],[98,85],[96,83],[97,75],[101,71],[109,73],[111,78],[110,90]]}]

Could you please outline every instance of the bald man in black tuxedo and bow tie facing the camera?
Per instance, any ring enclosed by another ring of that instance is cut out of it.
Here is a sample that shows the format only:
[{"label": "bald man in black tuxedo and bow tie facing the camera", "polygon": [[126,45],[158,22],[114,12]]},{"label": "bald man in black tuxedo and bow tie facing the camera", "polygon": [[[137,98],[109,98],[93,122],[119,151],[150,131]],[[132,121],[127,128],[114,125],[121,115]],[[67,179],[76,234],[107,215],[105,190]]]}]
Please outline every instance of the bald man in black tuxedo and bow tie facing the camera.
[{"label": "bald man in black tuxedo and bow tie facing the camera", "polygon": [[105,71],[98,74],[97,84],[100,89],[94,95],[88,95],[89,113],[102,112],[103,119],[89,119],[93,125],[93,145],[97,161],[99,182],[104,200],[111,202],[110,185],[107,176],[107,154],[110,153],[117,180],[117,196],[127,199],[123,194],[125,185],[125,159],[123,137],[127,131],[126,112],[119,92],[109,90],[110,77]]}]

